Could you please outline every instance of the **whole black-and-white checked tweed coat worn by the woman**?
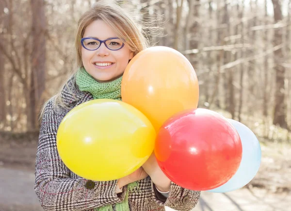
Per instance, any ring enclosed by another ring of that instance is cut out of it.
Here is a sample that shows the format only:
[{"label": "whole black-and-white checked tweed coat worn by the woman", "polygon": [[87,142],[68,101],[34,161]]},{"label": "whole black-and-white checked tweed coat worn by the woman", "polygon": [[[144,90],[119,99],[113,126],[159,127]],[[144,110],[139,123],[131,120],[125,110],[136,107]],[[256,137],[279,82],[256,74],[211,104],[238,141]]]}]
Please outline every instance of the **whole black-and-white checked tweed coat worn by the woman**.
[{"label": "whole black-and-white checked tweed coat worn by the woman", "polygon": [[[49,100],[41,122],[35,163],[34,190],[46,211],[93,211],[94,208],[124,200],[127,187],[116,194],[118,180],[92,181],[71,172],[59,157],[56,146],[58,127],[69,110],[92,100],[89,92],[69,90],[76,86],[70,79],[62,90],[67,108],[53,105]],[[140,191],[129,193],[131,211],[164,211],[164,206],[178,211],[190,211],[197,204],[200,192],[184,189],[171,183],[168,197],[162,201],[155,193],[150,177],[139,181]]]}]

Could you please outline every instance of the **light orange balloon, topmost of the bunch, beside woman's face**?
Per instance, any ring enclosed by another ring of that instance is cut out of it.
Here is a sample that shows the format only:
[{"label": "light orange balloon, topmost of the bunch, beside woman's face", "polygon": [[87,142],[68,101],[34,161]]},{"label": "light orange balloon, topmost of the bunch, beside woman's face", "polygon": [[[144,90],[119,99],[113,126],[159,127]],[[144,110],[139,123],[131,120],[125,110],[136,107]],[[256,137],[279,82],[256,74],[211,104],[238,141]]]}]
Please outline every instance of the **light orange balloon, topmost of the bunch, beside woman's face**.
[{"label": "light orange balloon, topmost of the bunch, beside woman's face", "polygon": [[150,47],[129,62],[121,96],[123,102],[143,112],[158,131],[173,114],[197,108],[198,79],[183,54],[169,47]]}]

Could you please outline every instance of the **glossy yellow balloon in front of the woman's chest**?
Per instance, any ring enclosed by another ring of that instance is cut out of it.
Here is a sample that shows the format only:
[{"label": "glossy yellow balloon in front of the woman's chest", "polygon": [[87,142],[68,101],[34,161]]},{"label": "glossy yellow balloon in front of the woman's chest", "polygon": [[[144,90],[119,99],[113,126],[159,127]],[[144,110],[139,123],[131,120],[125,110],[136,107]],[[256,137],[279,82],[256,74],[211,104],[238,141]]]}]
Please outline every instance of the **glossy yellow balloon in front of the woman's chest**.
[{"label": "glossy yellow balloon in front of the woman's chest", "polygon": [[97,99],[67,113],[57,132],[57,149],[75,174],[109,181],[141,167],[154,150],[155,138],[153,125],[138,109]]}]

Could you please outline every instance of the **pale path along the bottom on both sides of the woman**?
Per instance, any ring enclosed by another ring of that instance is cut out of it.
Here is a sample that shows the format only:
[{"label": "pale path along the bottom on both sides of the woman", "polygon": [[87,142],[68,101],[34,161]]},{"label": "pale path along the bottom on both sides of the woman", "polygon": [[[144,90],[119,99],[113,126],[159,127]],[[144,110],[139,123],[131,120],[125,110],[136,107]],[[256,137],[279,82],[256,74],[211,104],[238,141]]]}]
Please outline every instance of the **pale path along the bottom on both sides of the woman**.
[{"label": "pale path along the bottom on both sides of the woman", "polygon": [[[33,172],[2,167],[0,175],[0,211],[43,211],[33,190]],[[230,193],[203,192],[193,211],[287,211],[290,207],[291,195],[287,193],[241,189]]]}]

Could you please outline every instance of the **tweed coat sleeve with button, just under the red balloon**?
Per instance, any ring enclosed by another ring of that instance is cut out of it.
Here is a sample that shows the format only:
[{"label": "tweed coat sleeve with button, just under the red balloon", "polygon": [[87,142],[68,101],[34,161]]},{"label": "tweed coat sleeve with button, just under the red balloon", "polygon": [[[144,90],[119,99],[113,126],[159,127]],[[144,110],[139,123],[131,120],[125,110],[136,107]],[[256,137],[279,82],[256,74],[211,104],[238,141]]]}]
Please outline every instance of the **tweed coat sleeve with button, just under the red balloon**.
[{"label": "tweed coat sleeve with button, just under the red balloon", "polygon": [[168,197],[165,201],[157,198],[155,191],[155,184],[151,182],[152,197],[154,198],[154,203],[162,206],[170,207],[177,211],[191,211],[199,201],[200,191],[191,191],[182,188],[171,182],[171,188]]}]

